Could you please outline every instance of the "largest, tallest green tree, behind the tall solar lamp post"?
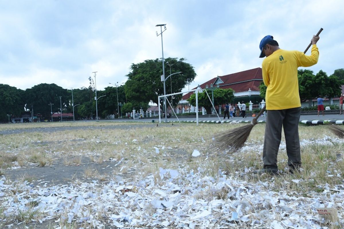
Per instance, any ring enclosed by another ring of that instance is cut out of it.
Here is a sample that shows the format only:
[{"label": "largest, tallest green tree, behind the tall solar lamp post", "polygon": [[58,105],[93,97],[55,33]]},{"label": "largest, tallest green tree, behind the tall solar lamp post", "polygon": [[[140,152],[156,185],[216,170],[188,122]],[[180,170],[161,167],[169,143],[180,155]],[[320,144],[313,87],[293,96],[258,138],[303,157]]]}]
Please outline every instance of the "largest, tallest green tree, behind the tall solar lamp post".
[{"label": "largest, tallest green tree, behind the tall solar lamp post", "polygon": [[[196,73],[192,65],[184,62],[181,58],[178,62],[177,58],[166,58],[165,61],[175,63],[171,67],[171,73],[182,72],[172,76],[172,79],[166,80],[166,94],[171,92],[169,82],[172,80],[172,92],[180,92],[186,84],[192,82],[196,77]],[[162,75],[162,61],[159,59],[145,60],[139,64],[132,64],[131,72],[127,75],[128,80],[125,83],[124,89],[128,101],[130,102],[144,102],[149,103],[153,101],[158,104],[158,96],[164,94],[163,82],[160,76]],[[165,65],[165,77],[170,74],[170,67]],[[180,99],[180,96],[174,96],[173,99]],[[169,98],[171,99],[171,98]]]}]

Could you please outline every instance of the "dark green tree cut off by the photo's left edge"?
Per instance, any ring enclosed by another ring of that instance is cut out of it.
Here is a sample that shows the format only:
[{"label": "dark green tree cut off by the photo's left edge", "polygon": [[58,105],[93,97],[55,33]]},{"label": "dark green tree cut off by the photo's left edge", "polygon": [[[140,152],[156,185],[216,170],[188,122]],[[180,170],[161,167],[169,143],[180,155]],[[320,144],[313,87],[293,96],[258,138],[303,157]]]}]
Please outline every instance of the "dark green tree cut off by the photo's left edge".
[{"label": "dark green tree cut off by the photo's left edge", "polygon": [[0,84],[0,122],[8,122],[8,116],[20,116],[24,113],[24,91]]}]

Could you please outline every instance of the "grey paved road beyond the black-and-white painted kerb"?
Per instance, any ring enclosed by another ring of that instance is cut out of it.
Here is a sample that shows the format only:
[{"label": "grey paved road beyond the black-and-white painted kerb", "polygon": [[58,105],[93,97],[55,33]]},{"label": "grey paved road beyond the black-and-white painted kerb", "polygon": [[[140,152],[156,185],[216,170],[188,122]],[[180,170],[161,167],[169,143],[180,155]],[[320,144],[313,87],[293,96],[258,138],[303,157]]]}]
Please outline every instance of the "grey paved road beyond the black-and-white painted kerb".
[{"label": "grey paved road beyond the black-and-white painted kerb", "polygon": [[[196,117],[178,117],[180,121],[196,121]],[[112,121],[112,122],[142,122],[142,121],[149,121],[152,122],[152,120],[154,120],[154,122],[159,122],[159,118],[155,117],[155,118],[142,118],[142,119],[111,119],[111,120],[101,120],[101,121]],[[177,118],[168,118],[168,121],[178,121]],[[199,121],[219,121],[218,117],[203,117],[202,115],[198,116],[198,120]],[[223,119],[223,115],[220,116],[220,120],[228,120]],[[246,118],[242,118],[242,117],[234,117],[234,118],[230,118],[229,120],[235,120],[235,121],[239,121],[239,120],[252,120],[252,117],[247,116]],[[266,121],[266,117],[264,116],[260,116],[258,120],[264,120]],[[300,116],[300,122],[302,120],[344,120],[344,115],[338,115],[338,114],[325,114],[324,116],[322,115],[301,115]],[[161,122],[164,122],[164,118],[161,119]]]}]

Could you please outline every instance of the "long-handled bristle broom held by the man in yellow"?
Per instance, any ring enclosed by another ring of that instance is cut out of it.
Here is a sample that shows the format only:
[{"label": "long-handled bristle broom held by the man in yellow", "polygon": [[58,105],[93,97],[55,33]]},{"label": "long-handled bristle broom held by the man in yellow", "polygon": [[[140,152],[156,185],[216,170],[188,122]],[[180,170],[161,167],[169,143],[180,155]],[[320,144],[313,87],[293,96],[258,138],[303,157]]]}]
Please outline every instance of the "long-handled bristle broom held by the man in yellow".
[{"label": "long-handled bristle broom held by the man in yellow", "polygon": [[[322,30],[323,28],[320,28],[319,32],[315,36],[319,36]],[[304,50],[303,53],[306,53],[307,50],[311,47],[311,45],[312,45],[312,42],[308,45],[308,47],[306,48],[306,50]],[[218,144],[218,147],[220,149],[225,149],[228,146],[230,146],[234,150],[237,150],[243,147],[245,141],[250,135],[252,128],[257,124],[257,119],[264,111],[265,111],[265,106],[259,111],[258,115],[252,120],[250,124],[247,124],[242,127],[234,128],[230,130],[229,132],[224,131],[216,135],[215,140]]]}]

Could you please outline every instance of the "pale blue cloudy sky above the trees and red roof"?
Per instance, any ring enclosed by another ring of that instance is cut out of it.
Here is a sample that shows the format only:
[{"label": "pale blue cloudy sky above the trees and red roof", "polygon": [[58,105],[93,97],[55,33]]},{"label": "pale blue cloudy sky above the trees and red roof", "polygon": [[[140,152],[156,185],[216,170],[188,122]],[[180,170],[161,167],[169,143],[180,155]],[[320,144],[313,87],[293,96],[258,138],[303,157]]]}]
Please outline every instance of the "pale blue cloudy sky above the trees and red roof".
[{"label": "pale blue cloudy sky above the trees and red roof", "polygon": [[[40,83],[97,89],[122,83],[132,63],[184,57],[197,77],[261,66],[259,42],[272,35],[282,49],[300,50],[322,27],[317,65],[331,75],[344,68],[344,1],[0,0],[0,83],[20,89]],[[310,51],[308,52],[310,54]],[[173,68],[173,67],[172,67]],[[173,69],[172,69],[173,71]]]}]

